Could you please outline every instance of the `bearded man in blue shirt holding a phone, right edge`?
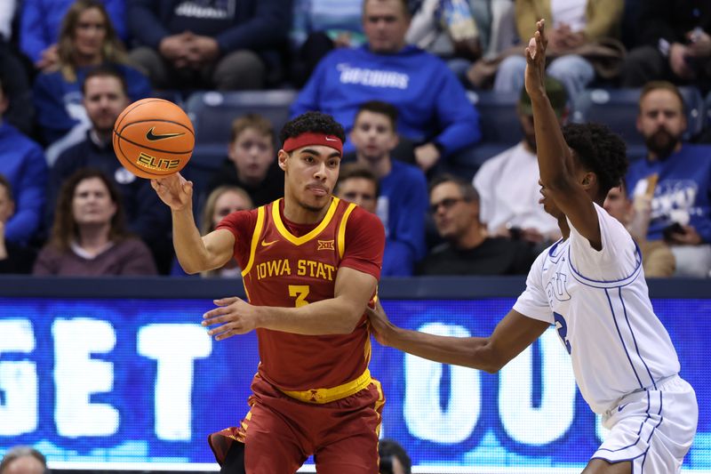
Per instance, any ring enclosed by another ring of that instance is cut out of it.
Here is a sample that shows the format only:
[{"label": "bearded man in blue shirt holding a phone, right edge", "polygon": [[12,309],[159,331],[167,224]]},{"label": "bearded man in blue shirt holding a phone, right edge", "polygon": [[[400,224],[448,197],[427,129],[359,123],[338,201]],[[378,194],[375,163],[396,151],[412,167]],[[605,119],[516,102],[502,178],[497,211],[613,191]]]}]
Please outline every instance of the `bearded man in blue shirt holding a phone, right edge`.
[{"label": "bearded man in blue shirt holding a phone, right edge", "polygon": [[[711,147],[682,142],[683,98],[674,84],[643,87],[637,130],[647,156],[632,163],[627,186],[634,199],[658,180],[651,197],[647,240],[663,240],[676,260],[675,276],[708,277],[711,271]],[[658,178],[651,178],[653,175]]]}]

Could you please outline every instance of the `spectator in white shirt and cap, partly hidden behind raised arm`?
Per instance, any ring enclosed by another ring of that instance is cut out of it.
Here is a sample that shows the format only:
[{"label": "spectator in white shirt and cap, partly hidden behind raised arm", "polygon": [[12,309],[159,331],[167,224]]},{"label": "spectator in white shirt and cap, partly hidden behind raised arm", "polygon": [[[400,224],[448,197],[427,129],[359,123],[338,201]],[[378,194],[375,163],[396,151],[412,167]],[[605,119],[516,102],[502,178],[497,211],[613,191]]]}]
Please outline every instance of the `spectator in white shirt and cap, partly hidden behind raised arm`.
[{"label": "spectator in white shirt and cap, partly hidden behind raised arm", "polygon": [[[561,125],[568,117],[568,94],[561,82],[546,78],[548,99]],[[523,140],[488,159],[474,177],[480,217],[492,237],[522,238],[542,245],[560,237],[555,219],[539,205],[539,164],[531,98],[525,87],[516,106]]]}]

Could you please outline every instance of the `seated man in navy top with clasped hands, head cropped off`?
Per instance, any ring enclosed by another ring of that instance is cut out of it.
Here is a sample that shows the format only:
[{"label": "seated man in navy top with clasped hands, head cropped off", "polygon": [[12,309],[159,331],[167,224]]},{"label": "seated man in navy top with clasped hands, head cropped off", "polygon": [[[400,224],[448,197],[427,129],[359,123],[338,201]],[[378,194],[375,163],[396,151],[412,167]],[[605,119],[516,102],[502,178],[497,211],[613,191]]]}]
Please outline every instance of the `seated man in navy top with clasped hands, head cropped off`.
[{"label": "seated man in navy top with clasped hands, head cropped off", "polygon": [[157,88],[260,89],[291,20],[292,0],[129,0],[131,57]]}]

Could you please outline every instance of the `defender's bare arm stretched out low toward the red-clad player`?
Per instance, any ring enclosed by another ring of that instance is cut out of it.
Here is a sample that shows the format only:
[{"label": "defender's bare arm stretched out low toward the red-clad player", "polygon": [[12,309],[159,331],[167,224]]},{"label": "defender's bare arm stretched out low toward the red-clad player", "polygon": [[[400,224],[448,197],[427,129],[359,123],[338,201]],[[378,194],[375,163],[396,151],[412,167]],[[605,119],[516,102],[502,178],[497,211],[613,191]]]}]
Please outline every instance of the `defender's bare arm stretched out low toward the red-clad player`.
[{"label": "defender's bare arm stretched out low toward the red-clad player", "polygon": [[366,309],[376,339],[383,345],[443,364],[471,367],[489,373],[519,355],[549,326],[511,309],[489,337],[450,337],[420,333],[393,325],[379,304]]}]

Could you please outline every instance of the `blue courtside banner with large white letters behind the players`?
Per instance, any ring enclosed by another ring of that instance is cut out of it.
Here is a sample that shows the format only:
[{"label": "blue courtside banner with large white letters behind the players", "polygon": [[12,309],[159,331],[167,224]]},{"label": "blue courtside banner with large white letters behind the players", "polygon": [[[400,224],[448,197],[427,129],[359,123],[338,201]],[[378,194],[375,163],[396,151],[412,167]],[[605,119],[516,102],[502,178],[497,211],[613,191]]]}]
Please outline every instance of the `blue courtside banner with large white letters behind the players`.
[{"label": "blue courtside banner with large white letters behind the players", "polygon": [[[514,301],[384,306],[397,325],[465,337],[491,333]],[[684,468],[711,470],[711,300],[653,303],[699,399]],[[206,437],[246,414],[259,356],[253,333],[212,341],[199,324],[211,308],[204,299],[0,297],[0,454],[23,444],[75,468],[216,469]],[[406,448],[415,472],[579,472],[605,434],[553,330],[499,374],[377,342],[371,372],[387,398],[383,435]]]}]

